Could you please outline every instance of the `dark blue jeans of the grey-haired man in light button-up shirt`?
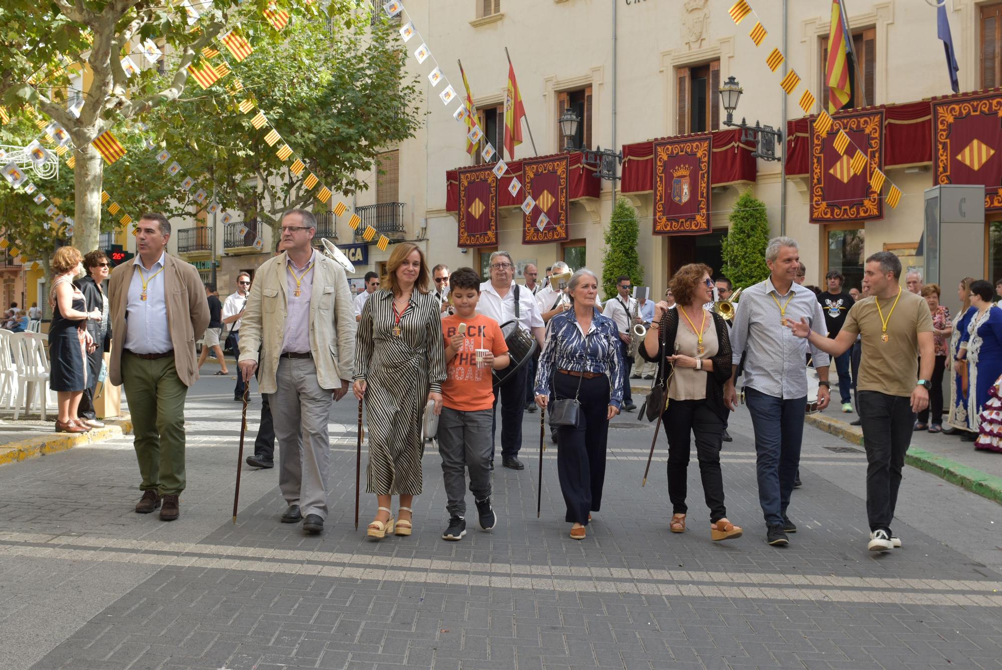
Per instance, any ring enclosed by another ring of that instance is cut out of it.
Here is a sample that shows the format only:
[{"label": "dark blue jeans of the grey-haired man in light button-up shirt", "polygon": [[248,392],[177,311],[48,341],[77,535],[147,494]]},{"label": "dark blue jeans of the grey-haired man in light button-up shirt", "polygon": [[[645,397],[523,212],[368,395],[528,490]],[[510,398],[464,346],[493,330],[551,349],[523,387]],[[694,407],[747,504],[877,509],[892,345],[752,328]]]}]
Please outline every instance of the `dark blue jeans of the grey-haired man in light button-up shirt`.
[{"label": "dark blue jeans of the grey-haired man in light button-up shirt", "polygon": [[744,387],[755,427],[759,505],[767,524],[782,524],[801,463],[804,411],[808,398],[783,398]]}]

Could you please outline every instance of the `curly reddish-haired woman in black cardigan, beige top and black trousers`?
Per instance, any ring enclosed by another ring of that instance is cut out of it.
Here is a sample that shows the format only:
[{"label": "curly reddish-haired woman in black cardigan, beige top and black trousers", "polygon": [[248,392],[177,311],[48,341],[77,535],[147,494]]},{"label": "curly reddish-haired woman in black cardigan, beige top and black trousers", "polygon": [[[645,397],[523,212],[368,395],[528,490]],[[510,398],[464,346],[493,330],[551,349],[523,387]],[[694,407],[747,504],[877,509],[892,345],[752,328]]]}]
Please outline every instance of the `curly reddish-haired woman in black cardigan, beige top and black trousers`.
[{"label": "curly reddish-haired woman in black cardigan, beige top and black trousers", "polygon": [[[713,301],[712,274],[701,263],[682,266],[675,273],[671,293],[676,308],[669,309],[663,301],[654,305],[654,317],[639,351],[644,359],[663,364],[665,369],[658,370],[657,378],[668,379],[668,406],[662,414],[668,436],[668,498],[672,505],[668,530],[685,532],[691,432],[709,508],[709,535],[717,542],[741,537],[741,529],[727,521],[723,507],[720,446],[727,412],[723,384],[730,378],[730,340],[723,319],[703,309]],[[662,342],[668,354],[664,360]]]}]

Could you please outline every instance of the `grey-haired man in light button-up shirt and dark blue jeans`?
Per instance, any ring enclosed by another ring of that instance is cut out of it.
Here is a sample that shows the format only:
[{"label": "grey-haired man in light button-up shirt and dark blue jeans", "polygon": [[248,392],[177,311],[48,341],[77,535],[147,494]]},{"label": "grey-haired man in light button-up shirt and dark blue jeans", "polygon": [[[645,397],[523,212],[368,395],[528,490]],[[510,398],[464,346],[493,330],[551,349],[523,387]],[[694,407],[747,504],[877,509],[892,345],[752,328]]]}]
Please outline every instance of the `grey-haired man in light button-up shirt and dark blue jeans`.
[{"label": "grey-haired man in light button-up shirt and dark blue jeans", "polygon": [[[759,504],[766,518],[766,541],[786,546],[788,533],[797,526],[787,516],[790,496],[801,461],[804,413],[808,401],[807,355],[809,346],[788,327],[804,319],[822,337],[828,335],[825,315],[814,294],[796,282],[800,250],[796,240],[770,240],[766,248],[770,276],[741,293],[740,308],[730,329],[734,372],[724,388],[727,406],[733,408],[737,393],[734,378],[744,357],[744,395],[755,428]],[[829,356],[810,346],[818,371],[818,407],[828,406]]]}]

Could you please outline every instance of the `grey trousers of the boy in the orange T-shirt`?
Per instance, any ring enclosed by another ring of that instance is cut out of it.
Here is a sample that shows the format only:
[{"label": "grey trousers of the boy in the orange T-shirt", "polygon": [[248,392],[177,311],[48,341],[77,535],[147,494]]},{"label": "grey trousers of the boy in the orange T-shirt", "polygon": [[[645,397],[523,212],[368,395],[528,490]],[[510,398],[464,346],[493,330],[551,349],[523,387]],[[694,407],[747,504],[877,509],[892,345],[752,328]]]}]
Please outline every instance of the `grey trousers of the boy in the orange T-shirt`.
[{"label": "grey trousers of the boy in the orange T-shirt", "polygon": [[493,409],[463,412],[442,408],[439,417],[439,455],[442,477],[449,501],[446,511],[462,517],[466,514],[466,470],[470,470],[470,492],[475,500],[491,494],[491,424]]}]

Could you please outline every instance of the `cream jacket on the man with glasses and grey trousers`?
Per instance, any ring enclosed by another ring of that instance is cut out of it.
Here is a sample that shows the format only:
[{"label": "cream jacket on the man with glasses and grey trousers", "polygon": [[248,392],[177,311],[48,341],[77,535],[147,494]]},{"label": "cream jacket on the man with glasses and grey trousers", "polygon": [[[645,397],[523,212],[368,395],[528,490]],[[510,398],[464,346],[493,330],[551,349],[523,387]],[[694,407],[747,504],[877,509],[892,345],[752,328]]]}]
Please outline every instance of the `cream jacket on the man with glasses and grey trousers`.
[{"label": "cream jacket on the man with glasses and grey trousers", "polygon": [[[240,357],[257,361],[258,387],[274,393],[279,356],[286,338],[286,254],[266,261],[255,275],[240,319]],[[321,388],[341,387],[351,381],[355,365],[355,306],[345,270],[317,253],[310,299],[310,352],[317,365]],[[260,350],[260,360],[259,360]]]}]

